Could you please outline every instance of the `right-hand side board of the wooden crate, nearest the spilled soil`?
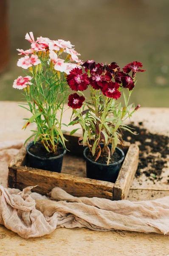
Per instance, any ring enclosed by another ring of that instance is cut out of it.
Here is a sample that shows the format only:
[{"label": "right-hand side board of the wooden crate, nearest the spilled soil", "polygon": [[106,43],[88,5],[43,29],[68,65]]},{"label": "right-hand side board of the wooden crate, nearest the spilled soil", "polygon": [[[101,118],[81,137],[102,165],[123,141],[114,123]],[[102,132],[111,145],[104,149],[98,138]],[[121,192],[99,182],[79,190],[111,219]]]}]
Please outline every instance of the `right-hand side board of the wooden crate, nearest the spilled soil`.
[{"label": "right-hand side board of the wooden crate, nearest the spilled soil", "polygon": [[131,144],[113,187],[113,200],[126,199],[138,167],[139,148]]}]

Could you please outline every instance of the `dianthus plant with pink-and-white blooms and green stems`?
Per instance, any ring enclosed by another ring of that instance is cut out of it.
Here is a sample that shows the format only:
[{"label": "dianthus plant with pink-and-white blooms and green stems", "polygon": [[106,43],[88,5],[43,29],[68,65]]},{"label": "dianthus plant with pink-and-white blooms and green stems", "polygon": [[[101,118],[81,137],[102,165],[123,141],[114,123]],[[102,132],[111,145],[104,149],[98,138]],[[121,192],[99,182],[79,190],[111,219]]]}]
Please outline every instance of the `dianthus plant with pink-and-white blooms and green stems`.
[{"label": "dianthus plant with pink-and-white blooms and green stems", "polygon": [[61,126],[68,96],[66,76],[73,68],[79,67],[81,61],[70,41],[42,37],[35,41],[32,32],[27,33],[25,39],[31,43],[31,49],[17,49],[19,55],[24,55],[17,66],[22,67],[26,75],[19,76],[13,84],[14,88],[23,89],[27,101],[20,106],[32,113],[23,128],[36,122],[37,131],[32,135],[35,136],[34,143],[41,140],[48,152],[57,153],[59,144],[65,147]]}]

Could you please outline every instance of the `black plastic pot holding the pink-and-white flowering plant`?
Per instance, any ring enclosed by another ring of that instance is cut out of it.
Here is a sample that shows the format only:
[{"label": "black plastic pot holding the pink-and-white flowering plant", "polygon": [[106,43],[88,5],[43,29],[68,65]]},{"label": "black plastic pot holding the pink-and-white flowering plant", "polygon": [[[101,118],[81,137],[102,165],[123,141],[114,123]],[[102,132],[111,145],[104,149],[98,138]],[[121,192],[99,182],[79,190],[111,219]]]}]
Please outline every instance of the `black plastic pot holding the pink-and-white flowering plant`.
[{"label": "black plastic pot holding the pink-and-white flowering plant", "polygon": [[48,170],[51,172],[61,172],[63,156],[66,154],[66,149],[62,154],[56,157],[42,158],[29,152],[29,148],[31,148],[33,144],[34,142],[32,141],[26,146],[29,166],[37,169]]}]

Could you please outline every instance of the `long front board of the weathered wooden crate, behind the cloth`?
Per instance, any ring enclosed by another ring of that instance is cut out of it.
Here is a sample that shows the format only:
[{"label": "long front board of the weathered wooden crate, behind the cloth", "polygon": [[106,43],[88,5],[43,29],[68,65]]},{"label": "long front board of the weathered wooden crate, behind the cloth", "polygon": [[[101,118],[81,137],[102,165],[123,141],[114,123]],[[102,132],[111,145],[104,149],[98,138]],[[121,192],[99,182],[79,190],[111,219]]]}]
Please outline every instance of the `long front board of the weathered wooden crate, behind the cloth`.
[{"label": "long front board of the weathered wooden crate, behind the cloth", "polygon": [[58,186],[74,196],[97,196],[108,199],[112,199],[114,186],[113,183],[107,181],[20,166],[17,169],[17,189],[36,185],[39,186],[33,191],[42,195],[46,195],[51,189]]}]

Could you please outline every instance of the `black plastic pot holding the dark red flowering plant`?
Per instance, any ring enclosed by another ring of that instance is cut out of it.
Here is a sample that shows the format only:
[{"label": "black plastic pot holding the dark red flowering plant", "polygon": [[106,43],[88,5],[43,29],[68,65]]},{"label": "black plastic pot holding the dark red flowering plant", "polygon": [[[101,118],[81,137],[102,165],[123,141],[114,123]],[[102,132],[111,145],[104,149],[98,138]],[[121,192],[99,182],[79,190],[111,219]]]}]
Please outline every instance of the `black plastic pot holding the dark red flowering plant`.
[{"label": "black plastic pot holding the dark red flowering plant", "polygon": [[[100,144],[101,148],[103,144]],[[111,150],[111,145],[109,145]],[[115,150],[121,155],[121,159],[118,162],[110,163],[97,163],[93,160],[90,160],[88,156],[89,148],[85,148],[83,154],[86,159],[86,174],[87,178],[95,180],[104,180],[115,183],[115,180],[118,177],[118,172],[121,167],[121,164],[124,160],[124,152],[120,148],[115,148]]]}]

